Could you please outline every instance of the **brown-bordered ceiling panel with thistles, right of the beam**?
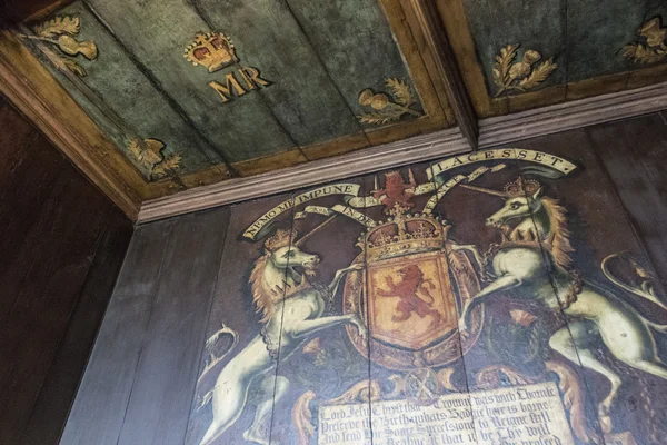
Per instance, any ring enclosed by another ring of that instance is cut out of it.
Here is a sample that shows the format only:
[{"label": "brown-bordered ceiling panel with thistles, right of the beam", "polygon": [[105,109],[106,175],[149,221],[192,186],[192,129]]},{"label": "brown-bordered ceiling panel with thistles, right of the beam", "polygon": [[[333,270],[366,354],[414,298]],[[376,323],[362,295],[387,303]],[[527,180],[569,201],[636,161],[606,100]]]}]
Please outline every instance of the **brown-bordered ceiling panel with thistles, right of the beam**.
[{"label": "brown-bordered ceiling panel with thistles, right of the beam", "polygon": [[664,0],[437,1],[480,118],[667,80],[664,28],[653,60],[628,50],[647,48],[640,28],[666,17]]}]

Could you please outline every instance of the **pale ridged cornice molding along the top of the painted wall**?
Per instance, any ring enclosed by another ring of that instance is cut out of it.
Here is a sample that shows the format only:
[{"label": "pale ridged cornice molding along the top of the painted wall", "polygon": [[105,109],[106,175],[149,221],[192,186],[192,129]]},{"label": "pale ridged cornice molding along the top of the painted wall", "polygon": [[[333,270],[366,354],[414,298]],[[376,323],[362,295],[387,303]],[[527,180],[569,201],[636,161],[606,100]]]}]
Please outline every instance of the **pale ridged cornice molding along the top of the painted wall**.
[{"label": "pale ridged cornice molding along the top of the painted wall", "polygon": [[[625,119],[667,108],[667,82],[481,120],[482,148]],[[470,151],[458,128],[143,202],[138,221],[182,215],[300,187]],[[270,182],[270,187],[267,184]]]}]

